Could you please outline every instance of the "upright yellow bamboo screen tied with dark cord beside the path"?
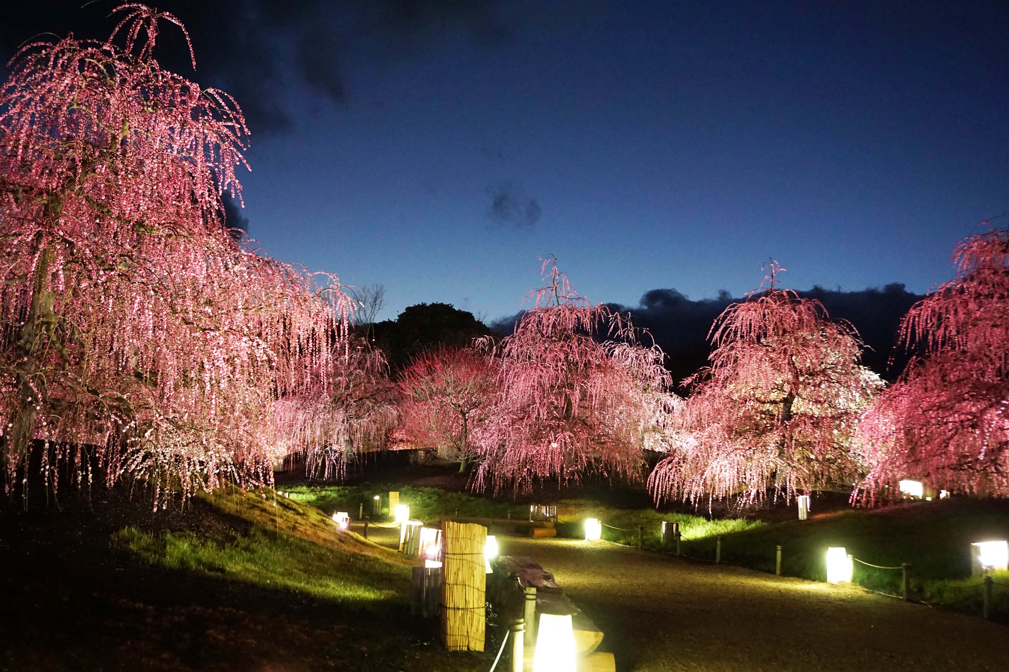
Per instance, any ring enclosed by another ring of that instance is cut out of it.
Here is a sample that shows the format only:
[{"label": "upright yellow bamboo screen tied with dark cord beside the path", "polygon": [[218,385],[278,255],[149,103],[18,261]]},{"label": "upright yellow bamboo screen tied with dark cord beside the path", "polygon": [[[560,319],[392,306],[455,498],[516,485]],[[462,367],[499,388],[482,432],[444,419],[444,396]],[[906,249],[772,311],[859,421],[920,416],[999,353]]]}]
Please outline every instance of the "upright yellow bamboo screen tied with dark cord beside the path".
[{"label": "upright yellow bamboo screen tied with dark cord beside the path", "polygon": [[449,651],[483,651],[487,528],[444,521],[441,637]]}]

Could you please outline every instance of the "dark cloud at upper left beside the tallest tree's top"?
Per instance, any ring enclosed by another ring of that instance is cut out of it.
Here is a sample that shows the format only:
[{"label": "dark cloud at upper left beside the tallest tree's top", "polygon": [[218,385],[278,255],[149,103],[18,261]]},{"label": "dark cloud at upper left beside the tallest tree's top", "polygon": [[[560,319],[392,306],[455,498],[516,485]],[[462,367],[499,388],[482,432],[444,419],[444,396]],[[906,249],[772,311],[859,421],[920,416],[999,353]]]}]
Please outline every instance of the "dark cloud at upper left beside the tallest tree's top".
[{"label": "dark cloud at upper left beside the tallest tree's top", "polygon": [[[104,39],[122,0],[0,0],[0,58],[41,33]],[[480,45],[508,40],[494,0],[158,0],[150,2],[186,24],[203,86],[234,96],[254,133],[291,125],[285,105],[292,84],[346,103],[347,54],[410,57],[447,31],[463,29]],[[189,52],[175,26],[163,25],[157,57],[192,76]]]}]

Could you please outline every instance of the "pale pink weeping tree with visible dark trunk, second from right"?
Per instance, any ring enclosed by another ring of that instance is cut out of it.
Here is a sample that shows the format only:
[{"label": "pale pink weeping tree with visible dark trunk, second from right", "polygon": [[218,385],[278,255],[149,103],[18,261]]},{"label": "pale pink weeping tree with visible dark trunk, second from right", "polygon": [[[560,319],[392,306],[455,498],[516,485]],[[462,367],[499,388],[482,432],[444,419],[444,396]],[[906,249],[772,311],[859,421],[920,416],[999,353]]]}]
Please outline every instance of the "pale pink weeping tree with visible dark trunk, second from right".
[{"label": "pale pink weeping tree with visible dark trunk, second from right", "polygon": [[772,260],[770,287],[711,326],[710,366],[687,379],[669,455],[649,477],[657,501],[752,502],[858,476],[853,435],[882,383],[860,365],[854,327],[775,286],[782,270]]}]

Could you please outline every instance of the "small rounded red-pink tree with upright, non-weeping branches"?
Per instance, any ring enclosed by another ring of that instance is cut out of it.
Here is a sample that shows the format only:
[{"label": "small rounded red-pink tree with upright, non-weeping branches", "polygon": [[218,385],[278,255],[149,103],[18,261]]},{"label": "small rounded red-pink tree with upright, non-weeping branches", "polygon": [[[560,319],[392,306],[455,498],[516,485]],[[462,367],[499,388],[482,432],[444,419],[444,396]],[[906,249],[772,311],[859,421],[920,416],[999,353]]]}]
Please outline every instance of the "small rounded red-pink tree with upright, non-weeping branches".
[{"label": "small rounded red-pink tree with upright, non-weeping branches", "polygon": [[400,375],[404,432],[414,445],[437,449],[459,472],[478,457],[474,436],[490,416],[497,362],[470,348],[441,348],[414,358]]}]

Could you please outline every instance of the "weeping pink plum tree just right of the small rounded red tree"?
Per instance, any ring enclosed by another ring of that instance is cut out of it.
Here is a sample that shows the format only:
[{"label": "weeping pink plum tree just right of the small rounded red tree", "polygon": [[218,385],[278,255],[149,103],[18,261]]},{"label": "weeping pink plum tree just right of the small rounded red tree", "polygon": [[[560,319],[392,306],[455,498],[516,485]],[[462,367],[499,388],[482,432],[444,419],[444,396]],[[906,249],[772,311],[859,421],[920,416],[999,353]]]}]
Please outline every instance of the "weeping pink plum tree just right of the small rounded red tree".
[{"label": "weeping pink plum tree just right of the small rounded red tree", "polygon": [[642,346],[619,313],[579,296],[556,259],[542,270],[548,284],[530,292],[533,307],[493,349],[499,391],[476,437],[475,486],[523,491],[589,472],[640,478],[643,449],[677,400],[664,355]]}]

